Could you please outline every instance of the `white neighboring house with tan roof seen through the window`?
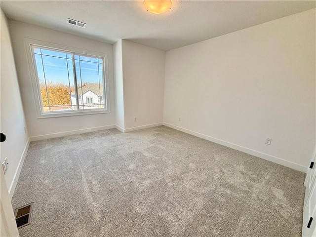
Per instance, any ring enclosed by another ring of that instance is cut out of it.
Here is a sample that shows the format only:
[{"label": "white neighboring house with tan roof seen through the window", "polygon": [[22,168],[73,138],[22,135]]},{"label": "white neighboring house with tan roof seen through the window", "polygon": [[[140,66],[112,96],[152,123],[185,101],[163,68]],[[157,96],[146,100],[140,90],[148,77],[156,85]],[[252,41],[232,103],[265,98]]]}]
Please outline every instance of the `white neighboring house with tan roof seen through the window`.
[{"label": "white neighboring house with tan roof seen through the window", "polygon": [[[76,92],[72,91],[71,103],[77,105]],[[100,105],[103,102],[103,86],[99,83],[90,83],[78,88],[79,105]]]}]

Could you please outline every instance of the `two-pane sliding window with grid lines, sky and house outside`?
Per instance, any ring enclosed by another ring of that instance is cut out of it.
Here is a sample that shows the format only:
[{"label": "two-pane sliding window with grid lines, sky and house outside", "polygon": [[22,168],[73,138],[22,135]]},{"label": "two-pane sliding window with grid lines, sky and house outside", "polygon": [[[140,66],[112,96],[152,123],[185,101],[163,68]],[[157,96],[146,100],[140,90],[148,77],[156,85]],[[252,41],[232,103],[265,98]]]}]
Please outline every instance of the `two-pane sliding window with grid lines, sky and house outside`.
[{"label": "two-pane sliding window with grid lines, sky and house outside", "polygon": [[105,57],[30,46],[39,118],[109,112]]}]

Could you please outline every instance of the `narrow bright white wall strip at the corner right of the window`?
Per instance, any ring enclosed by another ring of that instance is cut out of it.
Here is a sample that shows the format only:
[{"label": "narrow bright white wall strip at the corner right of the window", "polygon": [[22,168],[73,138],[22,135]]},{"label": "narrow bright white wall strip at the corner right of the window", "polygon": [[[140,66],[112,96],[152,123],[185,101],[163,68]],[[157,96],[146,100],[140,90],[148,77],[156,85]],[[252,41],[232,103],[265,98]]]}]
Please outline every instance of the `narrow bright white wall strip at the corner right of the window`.
[{"label": "narrow bright white wall strip at the corner right of the window", "polygon": [[124,124],[124,96],[123,96],[123,66],[122,66],[122,40],[113,45],[114,78],[115,78],[115,118],[120,129]]}]

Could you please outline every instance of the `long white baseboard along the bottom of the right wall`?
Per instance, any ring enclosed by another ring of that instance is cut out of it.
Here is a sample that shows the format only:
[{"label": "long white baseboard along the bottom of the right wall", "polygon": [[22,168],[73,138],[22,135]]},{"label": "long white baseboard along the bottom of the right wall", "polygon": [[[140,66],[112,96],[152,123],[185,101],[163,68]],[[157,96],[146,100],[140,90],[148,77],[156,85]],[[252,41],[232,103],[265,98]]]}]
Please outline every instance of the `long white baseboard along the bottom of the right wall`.
[{"label": "long white baseboard along the bottom of the right wall", "polygon": [[255,156],[255,157],[259,157],[259,158],[263,158],[263,159],[275,162],[277,164],[289,167],[291,169],[295,169],[295,170],[298,170],[298,171],[301,171],[301,172],[304,172],[304,173],[307,170],[306,166],[303,166],[303,165],[300,165],[300,164],[297,164],[297,163],[294,163],[294,162],[291,162],[291,161],[288,161],[288,160],[285,160],[285,159],[281,159],[281,158],[278,158],[278,157],[274,157],[274,156],[271,156],[271,155],[268,155],[268,154],[265,154],[265,153],[262,153],[262,152],[258,152],[258,151],[255,151],[255,150],[252,150],[252,149],[249,149],[249,148],[246,148],[246,147],[238,146],[236,144],[233,144],[233,143],[230,143],[230,142],[226,142],[226,141],[214,138],[214,137],[210,137],[210,136],[198,133],[198,132],[194,132],[194,131],[191,131],[191,130],[186,129],[186,128],[178,127],[178,126],[166,123],[166,122],[163,122],[163,125],[167,126],[167,127],[171,127],[173,129],[176,129],[176,130],[179,130],[179,131],[182,131],[182,132],[185,132],[185,133],[188,133],[188,134],[191,134],[191,135],[196,136],[196,137],[203,138],[203,139],[211,141],[211,142],[215,142],[215,143],[221,144],[221,145],[226,146],[226,147],[233,148],[235,150],[238,150],[238,151],[250,154],[250,155]]}]

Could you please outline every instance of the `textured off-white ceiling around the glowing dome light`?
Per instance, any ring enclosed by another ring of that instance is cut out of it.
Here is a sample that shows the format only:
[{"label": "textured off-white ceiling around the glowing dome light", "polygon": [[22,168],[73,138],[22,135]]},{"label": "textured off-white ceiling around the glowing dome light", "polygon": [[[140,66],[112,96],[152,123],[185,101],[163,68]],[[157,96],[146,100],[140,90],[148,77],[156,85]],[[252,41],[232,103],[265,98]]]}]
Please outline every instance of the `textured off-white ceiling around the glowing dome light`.
[{"label": "textured off-white ceiling around the glowing dome light", "polygon": [[[10,19],[94,40],[130,40],[164,51],[207,40],[316,7],[316,1],[173,0],[156,15],[143,1],[0,1]],[[86,23],[67,24],[66,18]]]}]

